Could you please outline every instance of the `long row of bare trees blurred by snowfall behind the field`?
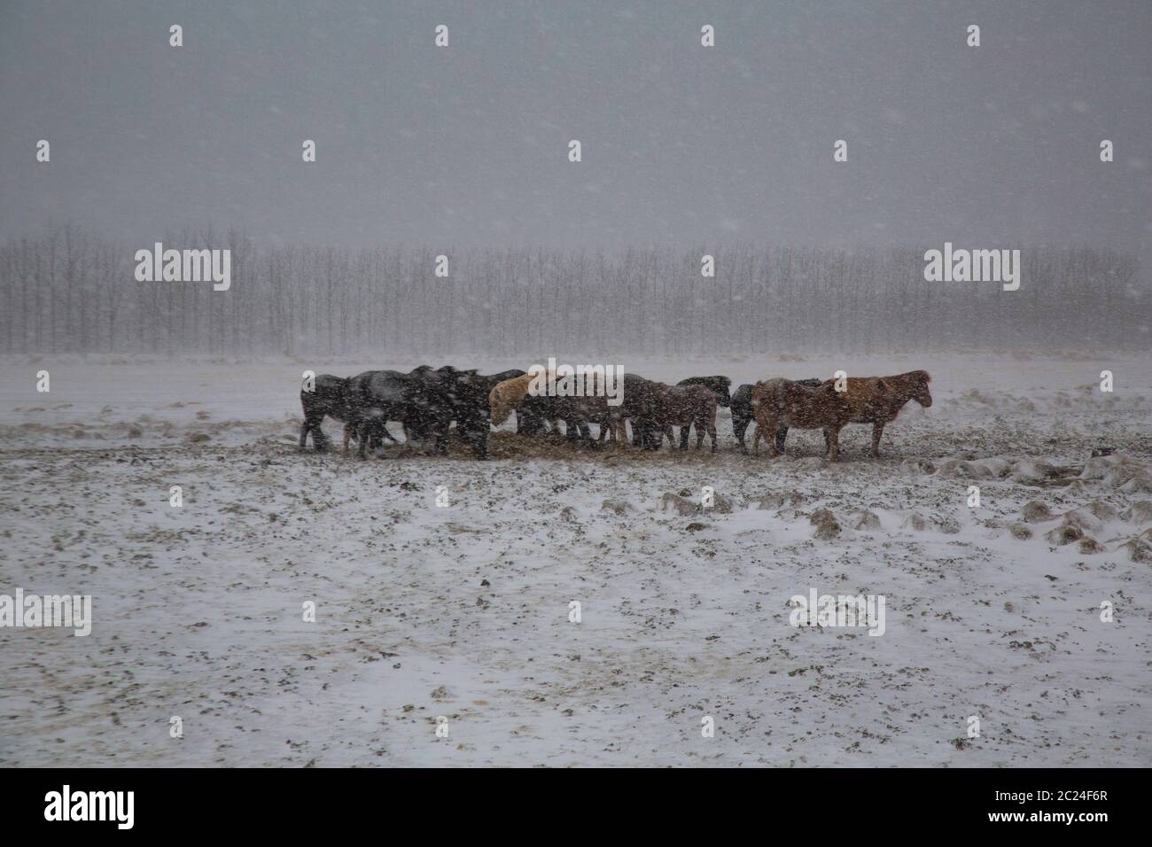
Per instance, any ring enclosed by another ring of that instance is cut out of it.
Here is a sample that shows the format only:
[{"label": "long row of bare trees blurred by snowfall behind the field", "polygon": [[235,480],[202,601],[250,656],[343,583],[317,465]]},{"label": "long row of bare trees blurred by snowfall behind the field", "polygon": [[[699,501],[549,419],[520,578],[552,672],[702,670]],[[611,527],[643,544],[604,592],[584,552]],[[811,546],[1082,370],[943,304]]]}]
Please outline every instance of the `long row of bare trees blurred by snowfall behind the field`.
[{"label": "long row of bare trees blurred by snowfall behind the field", "polygon": [[[0,247],[5,353],[342,355],[1146,348],[1129,256],[1028,249],[1020,290],[927,282],[924,250],[790,247],[258,249],[236,230],[165,247],[232,250],[232,287],[137,282],[134,255],[55,228]],[[448,277],[435,275],[437,254]],[[715,257],[715,277],[700,257]],[[533,360],[535,361],[535,360]]]}]

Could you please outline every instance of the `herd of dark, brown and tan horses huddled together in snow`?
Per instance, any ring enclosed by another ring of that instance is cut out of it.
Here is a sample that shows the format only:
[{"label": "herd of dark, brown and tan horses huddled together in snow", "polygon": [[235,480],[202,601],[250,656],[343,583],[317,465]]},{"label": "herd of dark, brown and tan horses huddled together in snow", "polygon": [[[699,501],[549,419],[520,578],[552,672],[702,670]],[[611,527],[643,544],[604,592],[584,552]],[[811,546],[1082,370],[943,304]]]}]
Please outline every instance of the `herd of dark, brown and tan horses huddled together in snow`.
[{"label": "herd of dark, brown and tan horses huddled together in snow", "polygon": [[[619,404],[611,404],[604,392],[585,396],[551,396],[531,391],[535,375],[520,370],[482,376],[476,370],[452,365],[433,369],[420,365],[408,373],[365,371],[355,377],[323,373],[301,390],[304,423],[300,446],[305,448],[311,433],[318,451],[328,447],[321,424],[325,417],[344,424],[343,452],[353,438],[357,454],[385,440],[399,443],[388,422],[403,428],[406,439],[420,443],[433,454],[448,452],[452,424],[472,448],[477,459],[487,457],[488,432],[516,413],[516,432],[522,436],[555,438],[563,436],[578,444],[606,440],[615,446],[629,444],[641,449],[659,449],[667,438],[675,446],[673,428],[680,429],[680,448],[688,448],[691,428],[696,428],[696,448],[711,439],[717,449],[717,409],[732,409],[733,433],[748,453],[744,433],[756,423],[752,453],[759,455],[760,438],[768,454],[783,452],[789,428],[824,431],[828,459],[839,455],[840,430],[850,423],[872,424],[872,455],[880,454],[880,437],[886,424],[915,400],[932,404],[927,371],[910,371],[890,377],[850,377],[841,379],[766,379],[741,385],[732,392],[728,377],[689,377],[676,385],[623,375]],[[561,429],[561,424],[563,428]],[[593,441],[591,424],[599,428]],[[631,425],[631,439],[628,438]]]}]

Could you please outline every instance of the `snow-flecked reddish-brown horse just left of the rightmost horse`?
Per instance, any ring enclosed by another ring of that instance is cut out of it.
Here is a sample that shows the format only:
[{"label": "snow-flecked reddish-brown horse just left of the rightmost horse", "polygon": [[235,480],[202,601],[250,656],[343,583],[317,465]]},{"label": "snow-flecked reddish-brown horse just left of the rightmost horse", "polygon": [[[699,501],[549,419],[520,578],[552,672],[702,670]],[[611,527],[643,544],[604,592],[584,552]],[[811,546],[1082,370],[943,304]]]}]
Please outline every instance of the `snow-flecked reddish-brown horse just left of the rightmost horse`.
[{"label": "snow-flecked reddish-brown horse just left of the rightmost horse", "polygon": [[813,388],[789,379],[768,379],[752,388],[756,414],[756,438],[752,455],[760,455],[760,438],[768,443],[768,455],[780,455],[772,440],[781,426],[824,430],[828,459],[840,455],[840,430],[851,419],[852,411],[844,396],[832,383]]}]

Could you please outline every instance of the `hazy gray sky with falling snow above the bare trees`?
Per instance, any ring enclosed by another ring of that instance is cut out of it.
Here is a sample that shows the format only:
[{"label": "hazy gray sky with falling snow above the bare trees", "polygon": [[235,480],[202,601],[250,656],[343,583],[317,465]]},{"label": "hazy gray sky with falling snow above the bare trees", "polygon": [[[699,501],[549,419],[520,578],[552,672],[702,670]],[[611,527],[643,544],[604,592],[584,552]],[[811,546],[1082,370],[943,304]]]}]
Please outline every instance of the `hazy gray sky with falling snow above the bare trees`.
[{"label": "hazy gray sky with falling snow above the bare trees", "polygon": [[1086,243],[1147,280],[1150,56],[1149,0],[0,0],[0,235]]}]

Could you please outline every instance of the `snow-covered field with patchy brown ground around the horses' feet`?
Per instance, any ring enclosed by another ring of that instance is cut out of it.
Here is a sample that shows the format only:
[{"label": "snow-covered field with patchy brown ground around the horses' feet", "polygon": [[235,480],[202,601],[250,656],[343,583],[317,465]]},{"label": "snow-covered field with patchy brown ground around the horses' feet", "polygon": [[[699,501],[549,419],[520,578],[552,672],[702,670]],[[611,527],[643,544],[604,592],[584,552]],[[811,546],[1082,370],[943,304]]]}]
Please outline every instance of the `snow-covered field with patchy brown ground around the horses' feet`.
[{"label": "snow-covered field with patchy brown ground around the horses' feet", "polygon": [[[930,370],[879,460],[743,456],[726,411],[715,455],[297,452],[304,369],[418,363],[3,360],[0,593],[94,622],[0,628],[0,764],[1152,764],[1152,356],[616,362]],[[789,626],[810,589],[882,595],[884,635]]]}]

